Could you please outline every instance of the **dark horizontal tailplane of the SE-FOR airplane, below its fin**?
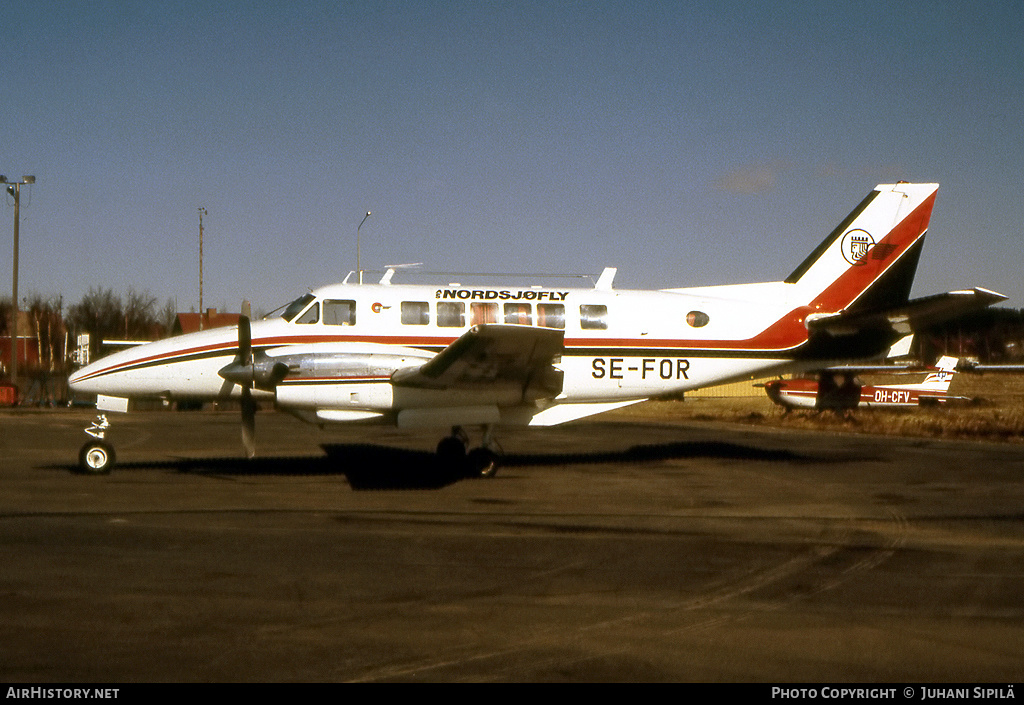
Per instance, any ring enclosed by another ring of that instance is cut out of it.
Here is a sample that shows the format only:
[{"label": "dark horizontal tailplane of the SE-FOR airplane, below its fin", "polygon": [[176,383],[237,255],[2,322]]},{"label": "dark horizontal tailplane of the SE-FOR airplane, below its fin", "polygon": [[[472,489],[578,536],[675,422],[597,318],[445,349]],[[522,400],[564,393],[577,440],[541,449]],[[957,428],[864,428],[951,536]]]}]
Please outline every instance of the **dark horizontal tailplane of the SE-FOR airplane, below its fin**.
[{"label": "dark horizontal tailplane of the SE-FOR airplane, below its fin", "polygon": [[872,330],[906,335],[961,314],[990,306],[1006,298],[1002,294],[981,288],[950,291],[915,298],[892,308],[809,316],[807,329],[812,335],[824,333],[842,336]]}]

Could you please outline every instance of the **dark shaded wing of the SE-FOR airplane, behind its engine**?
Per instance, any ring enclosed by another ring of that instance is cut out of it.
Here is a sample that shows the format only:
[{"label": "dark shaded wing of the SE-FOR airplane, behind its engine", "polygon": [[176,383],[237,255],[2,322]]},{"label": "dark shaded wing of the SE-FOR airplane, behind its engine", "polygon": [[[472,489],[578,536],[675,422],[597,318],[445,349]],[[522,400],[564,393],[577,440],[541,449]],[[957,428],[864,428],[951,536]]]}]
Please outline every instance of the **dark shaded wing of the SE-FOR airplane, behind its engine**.
[{"label": "dark shaded wing of the SE-FOR airplane, behind its engine", "polygon": [[555,369],[563,331],[501,324],[473,326],[420,367],[397,370],[395,386],[426,389],[480,389],[518,385],[524,400],[550,399],[562,390]]}]

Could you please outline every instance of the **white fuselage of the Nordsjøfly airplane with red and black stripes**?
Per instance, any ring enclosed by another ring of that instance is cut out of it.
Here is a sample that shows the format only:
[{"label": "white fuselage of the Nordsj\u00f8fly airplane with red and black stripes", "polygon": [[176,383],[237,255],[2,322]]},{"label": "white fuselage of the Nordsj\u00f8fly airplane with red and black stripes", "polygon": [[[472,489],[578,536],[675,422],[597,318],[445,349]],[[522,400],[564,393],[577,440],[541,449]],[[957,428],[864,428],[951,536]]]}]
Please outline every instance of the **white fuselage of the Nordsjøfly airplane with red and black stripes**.
[{"label": "white fuselage of the Nordsj\u00f8fly airplane with red and black stripes", "polygon": [[[253,322],[252,347],[289,366],[262,397],[311,412],[318,421],[496,405],[505,423],[559,422],[584,408],[549,410],[621,405],[785,367],[807,334],[806,310],[777,295],[788,286],[650,292],[339,284],[297,299],[284,317]],[[774,310],[764,305],[766,287],[775,290]],[[758,300],[762,305],[755,305]],[[502,395],[494,384],[455,391],[391,384],[396,370],[423,365],[474,326],[494,325],[548,328],[564,336],[555,363],[561,389],[544,408],[523,403],[515,388]],[[86,393],[223,399],[239,395],[239,386],[219,374],[237,348],[237,328],[213,329],[112,355],[71,381]],[[254,393],[261,395],[258,385]],[[547,413],[537,418],[542,411]]]}]

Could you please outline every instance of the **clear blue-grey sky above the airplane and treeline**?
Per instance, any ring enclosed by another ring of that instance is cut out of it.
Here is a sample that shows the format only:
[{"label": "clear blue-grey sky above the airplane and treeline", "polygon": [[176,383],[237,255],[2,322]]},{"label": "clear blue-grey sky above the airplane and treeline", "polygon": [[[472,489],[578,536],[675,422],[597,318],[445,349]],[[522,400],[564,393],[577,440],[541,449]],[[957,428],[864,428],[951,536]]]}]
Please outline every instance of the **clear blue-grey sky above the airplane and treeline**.
[{"label": "clear blue-grey sky above the airplane and treeline", "polygon": [[777,280],[905,179],[941,183],[913,293],[978,285],[1022,307],[1021,10],[15,3],[0,173],[38,179],[19,292],[195,308],[200,207],[204,303],[236,310],[343,279],[367,210],[368,269]]}]

